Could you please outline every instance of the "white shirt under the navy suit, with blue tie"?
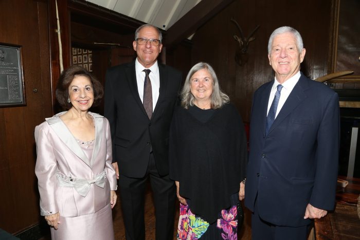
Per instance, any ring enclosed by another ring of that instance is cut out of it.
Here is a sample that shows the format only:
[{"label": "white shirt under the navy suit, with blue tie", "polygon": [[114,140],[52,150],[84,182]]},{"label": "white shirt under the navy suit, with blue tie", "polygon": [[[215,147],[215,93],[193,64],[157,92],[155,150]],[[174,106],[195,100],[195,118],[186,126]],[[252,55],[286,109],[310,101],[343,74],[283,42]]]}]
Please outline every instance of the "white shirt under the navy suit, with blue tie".
[{"label": "white shirt under the navy suit, with blue tie", "polygon": [[[291,94],[291,91],[295,87],[296,83],[299,81],[300,76],[301,76],[301,73],[300,73],[300,71],[298,71],[293,77],[287,79],[283,84],[281,84],[282,88],[281,88],[281,92],[280,92],[278,108],[276,109],[275,118],[278,116],[282,106],[285,104],[287,97],[289,97],[289,95]],[[271,88],[270,97],[269,97],[269,101],[267,104],[267,114],[269,113],[269,109],[271,107],[271,104],[273,103],[275,93],[277,91],[277,86],[279,84],[280,83],[278,82],[278,80],[276,80],[276,77],[275,77],[274,85]],[[267,116],[267,114],[266,114],[266,116]]]}]

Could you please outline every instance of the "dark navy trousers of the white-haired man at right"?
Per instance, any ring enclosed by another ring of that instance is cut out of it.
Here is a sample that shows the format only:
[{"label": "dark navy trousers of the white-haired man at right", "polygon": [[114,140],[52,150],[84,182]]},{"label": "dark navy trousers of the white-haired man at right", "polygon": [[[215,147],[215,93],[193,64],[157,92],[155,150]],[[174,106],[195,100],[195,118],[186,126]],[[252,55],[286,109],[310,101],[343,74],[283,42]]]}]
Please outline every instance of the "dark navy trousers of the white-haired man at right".
[{"label": "dark navy trousers of the white-haired man at right", "polygon": [[[305,214],[305,213],[304,213]],[[300,227],[277,226],[264,221],[259,216],[258,201],[251,215],[251,239],[253,240],[306,240],[309,225]]]}]

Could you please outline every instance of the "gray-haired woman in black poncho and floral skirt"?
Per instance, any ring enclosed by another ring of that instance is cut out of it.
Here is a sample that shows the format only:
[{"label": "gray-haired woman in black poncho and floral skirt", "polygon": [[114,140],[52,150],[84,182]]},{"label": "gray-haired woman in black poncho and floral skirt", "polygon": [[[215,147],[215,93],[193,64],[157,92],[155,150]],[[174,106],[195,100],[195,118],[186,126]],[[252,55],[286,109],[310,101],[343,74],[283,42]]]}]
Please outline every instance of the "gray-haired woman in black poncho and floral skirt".
[{"label": "gray-haired woman in black poncho and floral skirt", "polygon": [[181,98],[169,140],[181,203],[177,238],[237,239],[247,162],[242,119],[207,63],[190,69]]}]

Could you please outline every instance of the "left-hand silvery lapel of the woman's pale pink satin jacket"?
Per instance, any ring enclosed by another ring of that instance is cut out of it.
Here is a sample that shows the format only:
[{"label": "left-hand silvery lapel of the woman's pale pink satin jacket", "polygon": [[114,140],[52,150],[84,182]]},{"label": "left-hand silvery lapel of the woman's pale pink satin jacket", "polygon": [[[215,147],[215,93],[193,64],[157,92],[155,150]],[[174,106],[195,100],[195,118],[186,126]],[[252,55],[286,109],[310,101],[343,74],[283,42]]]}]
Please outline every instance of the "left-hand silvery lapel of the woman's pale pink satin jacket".
[{"label": "left-hand silvery lapel of the woman's pale pink satin jacket", "polygon": [[79,143],[75,139],[75,137],[70,133],[67,126],[59,116],[61,116],[63,113],[59,113],[55,115],[52,118],[45,119],[47,123],[50,125],[52,130],[58,135],[58,137],[61,139],[61,141],[64,142],[64,144],[73,152],[76,156],[78,156],[83,162],[86,163],[91,168],[91,163],[89,159],[86,157],[85,153],[82,151],[81,147],[79,146]]}]

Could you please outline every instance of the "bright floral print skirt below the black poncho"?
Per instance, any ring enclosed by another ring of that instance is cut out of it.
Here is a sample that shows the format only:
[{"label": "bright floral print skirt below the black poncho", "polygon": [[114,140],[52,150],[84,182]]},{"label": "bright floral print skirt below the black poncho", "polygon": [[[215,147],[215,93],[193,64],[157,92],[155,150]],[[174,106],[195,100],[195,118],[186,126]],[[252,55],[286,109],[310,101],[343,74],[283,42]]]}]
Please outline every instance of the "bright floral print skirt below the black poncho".
[{"label": "bright floral print skirt below the black poncho", "polygon": [[222,210],[218,220],[207,223],[191,212],[188,205],[180,204],[180,216],[177,226],[177,239],[238,239],[238,206]]}]

